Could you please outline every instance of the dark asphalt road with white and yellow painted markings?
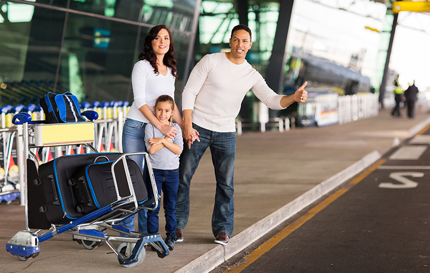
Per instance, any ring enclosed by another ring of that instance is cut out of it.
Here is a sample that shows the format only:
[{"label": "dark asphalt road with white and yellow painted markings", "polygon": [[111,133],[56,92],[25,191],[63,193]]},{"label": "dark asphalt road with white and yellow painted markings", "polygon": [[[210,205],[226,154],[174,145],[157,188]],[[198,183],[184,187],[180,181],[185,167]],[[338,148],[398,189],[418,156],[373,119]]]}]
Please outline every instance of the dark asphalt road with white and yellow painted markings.
[{"label": "dark asphalt road with white and yellow painted markings", "polygon": [[218,272],[430,272],[430,130],[278,226]]}]

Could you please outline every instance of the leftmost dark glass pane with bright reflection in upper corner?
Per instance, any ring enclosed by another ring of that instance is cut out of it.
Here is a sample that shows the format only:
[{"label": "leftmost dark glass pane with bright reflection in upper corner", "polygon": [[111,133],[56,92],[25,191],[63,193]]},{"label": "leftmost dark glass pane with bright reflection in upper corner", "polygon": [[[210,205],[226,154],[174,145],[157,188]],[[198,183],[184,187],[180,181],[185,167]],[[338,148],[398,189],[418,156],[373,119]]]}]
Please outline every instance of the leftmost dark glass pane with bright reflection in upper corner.
[{"label": "leftmost dark glass pane with bright reflection in upper corner", "polygon": [[53,90],[65,13],[0,4],[0,105],[38,103]]}]

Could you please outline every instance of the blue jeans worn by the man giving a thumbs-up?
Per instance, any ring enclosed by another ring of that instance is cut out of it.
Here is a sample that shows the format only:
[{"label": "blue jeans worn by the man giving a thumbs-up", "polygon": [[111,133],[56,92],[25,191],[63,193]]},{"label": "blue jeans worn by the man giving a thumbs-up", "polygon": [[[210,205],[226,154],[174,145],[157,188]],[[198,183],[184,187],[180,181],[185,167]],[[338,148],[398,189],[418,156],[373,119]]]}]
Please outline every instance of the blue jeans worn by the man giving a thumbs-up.
[{"label": "blue jeans worn by the man giving a thumbs-up", "polygon": [[195,141],[180,157],[179,188],[176,202],[177,228],[185,229],[190,212],[190,184],[198,163],[210,148],[212,164],[215,169],[217,190],[212,213],[212,233],[226,232],[229,237],[233,234],[234,201],[233,173],[236,153],[236,132],[215,132],[204,129],[196,124],[193,128],[199,132],[200,142]]}]

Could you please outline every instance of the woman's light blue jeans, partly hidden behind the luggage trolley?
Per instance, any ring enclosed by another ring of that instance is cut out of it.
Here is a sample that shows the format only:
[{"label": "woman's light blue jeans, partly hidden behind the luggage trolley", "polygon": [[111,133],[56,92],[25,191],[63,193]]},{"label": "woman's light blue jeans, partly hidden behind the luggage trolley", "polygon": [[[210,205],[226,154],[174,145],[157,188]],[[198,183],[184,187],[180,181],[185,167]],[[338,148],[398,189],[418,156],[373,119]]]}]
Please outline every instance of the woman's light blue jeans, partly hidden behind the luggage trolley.
[{"label": "woman's light blue jeans, partly hidden behind the luggage trolley", "polygon": [[[125,119],[124,127],[122,129],[122,152],[146,152],[145,148],[145,122],[137,121],[134,119]],[[143,155],[130,156],[136,161],[138,166],[142,170]],[[145,165],[145,168],[147,166]],[[144,171],[146,173],[146,171]],[[146,210],[141,210],[138,213],[138,231],[142,233],[148,233],[147,222],[146,222]],[[128,228],[135,229],[135,217],[128,217],[125,220],[119,222],[119,224],[126,225]]]}]

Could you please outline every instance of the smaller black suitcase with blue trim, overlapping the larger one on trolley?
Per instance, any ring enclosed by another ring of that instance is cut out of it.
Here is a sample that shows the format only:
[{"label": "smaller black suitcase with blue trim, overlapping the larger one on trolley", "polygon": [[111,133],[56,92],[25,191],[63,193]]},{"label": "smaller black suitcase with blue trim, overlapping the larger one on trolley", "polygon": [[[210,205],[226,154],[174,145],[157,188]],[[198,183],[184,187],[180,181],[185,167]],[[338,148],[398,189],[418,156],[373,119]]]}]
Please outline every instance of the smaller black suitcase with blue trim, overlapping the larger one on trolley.
[{"label": "smaller black suitcase with blue trim, overlapping the larger one on trolley", "polygon": [[[139,204],[142,204],[148,196],[142,172],[134,160],[127,158],[126,162],[136,200]],[[111,171],[112,163],[113,161],[110,161],[104,155],[98,156],[94,159],[94,163],[83,167],[76,172],[73,178],[68,180],[68,186],[73,189],[77,199],[76,212],[88,214],[117,201]],[[114,171],[119,196],[130,196],[123,163],[118,162],[114,167]]]}]

